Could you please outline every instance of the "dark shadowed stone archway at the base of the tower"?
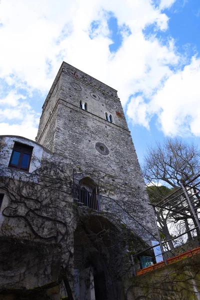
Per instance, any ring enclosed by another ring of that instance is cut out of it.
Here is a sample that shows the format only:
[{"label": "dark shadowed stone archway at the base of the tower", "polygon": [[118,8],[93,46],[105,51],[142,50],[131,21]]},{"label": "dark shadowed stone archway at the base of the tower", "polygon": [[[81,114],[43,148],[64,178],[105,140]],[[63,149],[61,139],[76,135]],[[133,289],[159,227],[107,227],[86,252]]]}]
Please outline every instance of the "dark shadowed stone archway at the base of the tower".
[{"label": "dark shadowed stone archway at the base of the tower", "polygon": [[[76,279],[79,278],[76,293],[81,299],[83,294],[90,299],[89,293],[93,292],[96,300],[114,300],[119,293],[126,253],[123,234],[109,216],[79,210],[80,221],[74,230],[74,269]],[[102,298],[97,295],[99,288]]]}]

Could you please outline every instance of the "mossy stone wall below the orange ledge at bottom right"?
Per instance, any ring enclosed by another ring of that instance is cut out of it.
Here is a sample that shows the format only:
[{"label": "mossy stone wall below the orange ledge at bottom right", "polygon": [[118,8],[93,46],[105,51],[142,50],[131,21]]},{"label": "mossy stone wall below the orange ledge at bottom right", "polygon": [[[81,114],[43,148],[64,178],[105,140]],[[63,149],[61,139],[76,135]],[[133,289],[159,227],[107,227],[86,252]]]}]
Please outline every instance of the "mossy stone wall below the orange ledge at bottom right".
[{"label": "mossy stone wall below the orange ledge at bottom right", "polygon": [[199,300],[200,254],[127,279],[121,300]]}]

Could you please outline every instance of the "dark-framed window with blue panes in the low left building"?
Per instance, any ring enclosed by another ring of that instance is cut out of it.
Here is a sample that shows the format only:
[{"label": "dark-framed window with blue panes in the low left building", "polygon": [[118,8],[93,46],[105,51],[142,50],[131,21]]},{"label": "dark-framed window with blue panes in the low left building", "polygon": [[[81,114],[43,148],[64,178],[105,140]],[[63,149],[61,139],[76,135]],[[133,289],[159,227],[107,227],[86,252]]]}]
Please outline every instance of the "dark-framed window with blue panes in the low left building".
[{"label": "dark-framed window with blue panes in the low left building", "polygon": [[33,147],[15,142],[8,166],[21,171],[28,171]]}]

